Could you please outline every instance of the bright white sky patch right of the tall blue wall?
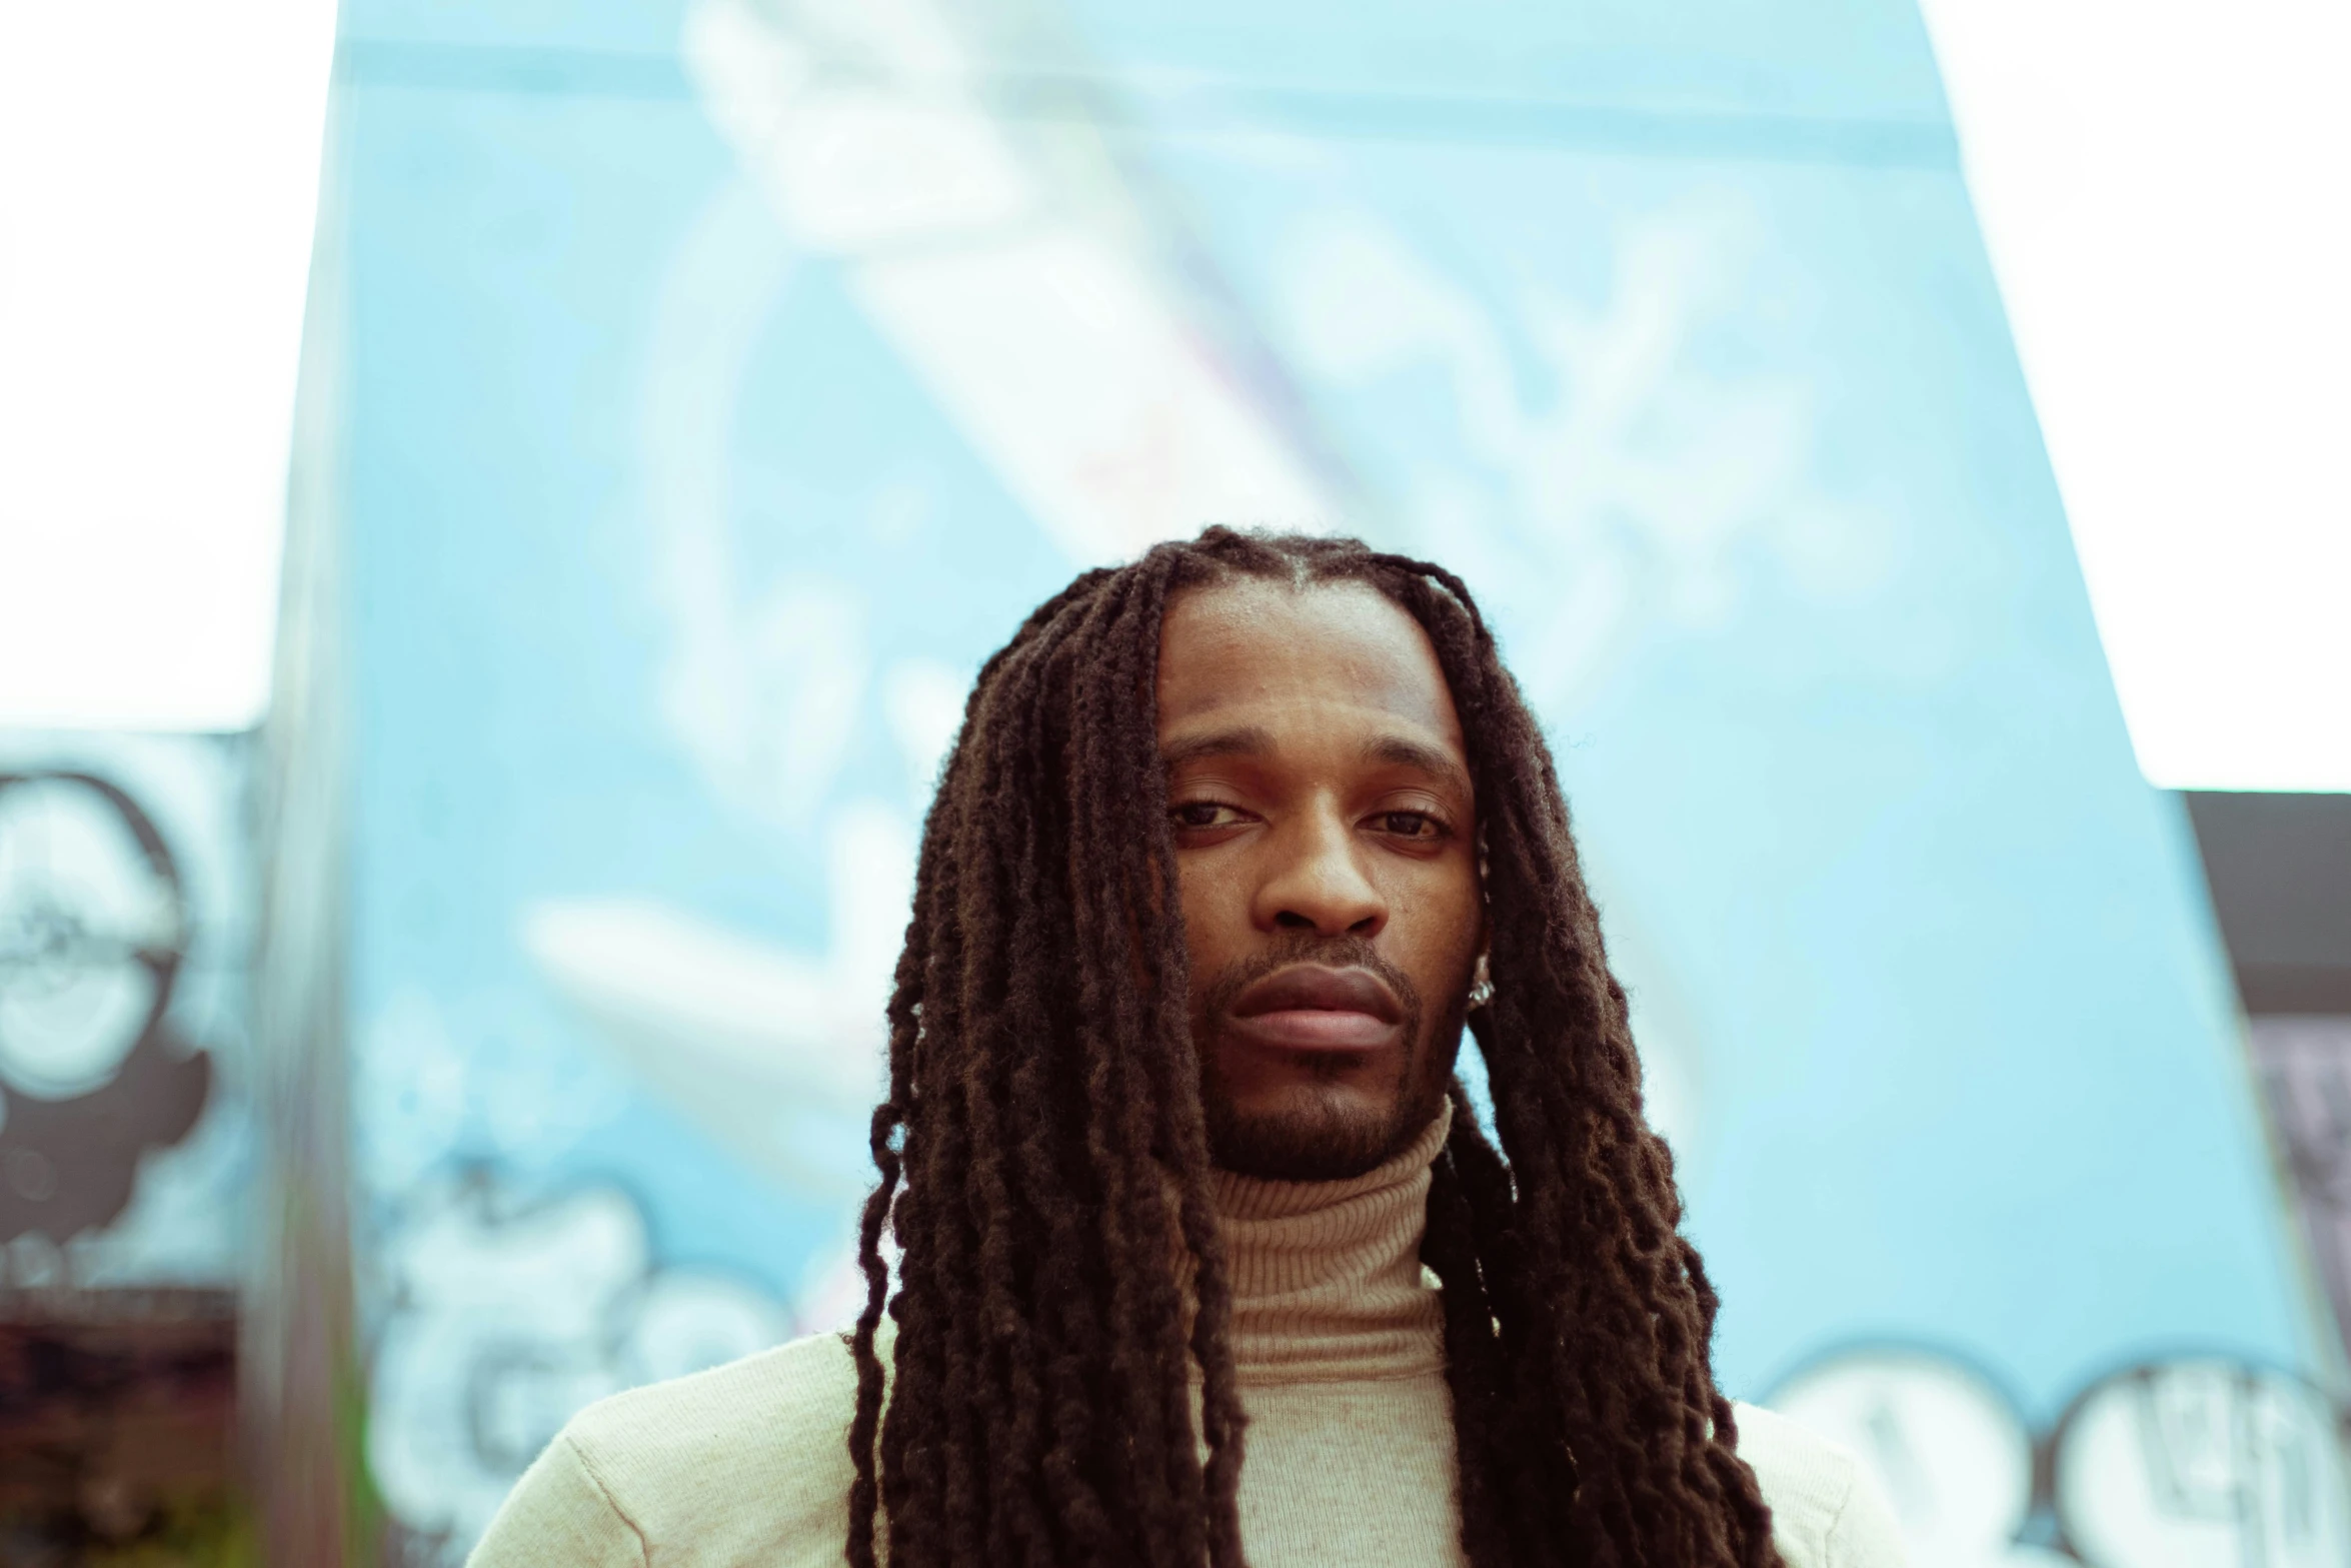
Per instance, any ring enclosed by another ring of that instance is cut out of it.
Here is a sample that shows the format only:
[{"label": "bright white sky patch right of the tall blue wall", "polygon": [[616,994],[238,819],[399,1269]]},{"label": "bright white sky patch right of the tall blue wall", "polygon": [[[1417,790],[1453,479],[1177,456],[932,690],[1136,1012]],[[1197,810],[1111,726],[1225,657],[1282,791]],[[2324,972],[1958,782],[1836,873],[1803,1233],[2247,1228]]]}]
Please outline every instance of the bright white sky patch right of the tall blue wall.
[{"label": "bright white sky patch right of the tall blue wall", "polygon": [[2351,790],[2351,7],[1923,9],[2139,769]]}]

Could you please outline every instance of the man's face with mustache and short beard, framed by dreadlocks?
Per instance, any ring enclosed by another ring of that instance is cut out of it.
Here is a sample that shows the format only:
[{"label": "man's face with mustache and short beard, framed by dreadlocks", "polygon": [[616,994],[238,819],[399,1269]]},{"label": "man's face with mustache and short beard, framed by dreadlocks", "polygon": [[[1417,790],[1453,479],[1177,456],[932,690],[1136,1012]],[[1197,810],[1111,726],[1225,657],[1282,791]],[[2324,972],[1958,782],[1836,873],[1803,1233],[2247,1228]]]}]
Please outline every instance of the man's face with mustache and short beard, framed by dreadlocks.
[{"label": "man's face with mustache and short beard, framed by dreadlocks", "polygon": [[1159,755],[1208,1154],[1361,1175],[1436,1114],[1483,945],[1436,651],[1359,583],[1185,592],[1159,635]]}]

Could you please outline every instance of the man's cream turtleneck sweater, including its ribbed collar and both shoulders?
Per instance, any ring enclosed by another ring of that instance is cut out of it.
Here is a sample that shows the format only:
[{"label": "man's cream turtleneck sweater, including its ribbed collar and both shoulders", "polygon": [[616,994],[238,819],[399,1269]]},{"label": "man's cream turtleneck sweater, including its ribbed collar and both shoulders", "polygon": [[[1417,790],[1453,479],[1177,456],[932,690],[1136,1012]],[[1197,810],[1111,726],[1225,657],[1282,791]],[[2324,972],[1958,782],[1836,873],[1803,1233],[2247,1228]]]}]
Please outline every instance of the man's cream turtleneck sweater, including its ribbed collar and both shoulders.
[{"label": "man's cream turtleneck sweater, including its ribbed collar and both shoulders", "polygon": [[[1444,1121],[1368,1175],[1215,1175],[1248,1410],[1253,1568],[1455,1568],[1444,1314],[1420,1269]],[[813,1335],[581,1410],[515,1486],[470,1568],[837,1568],[856,1371]],[[1841,1448],[1740,1406],[1740,1458],[1789,1568],[1897,1568],[1902,1542]]]}]

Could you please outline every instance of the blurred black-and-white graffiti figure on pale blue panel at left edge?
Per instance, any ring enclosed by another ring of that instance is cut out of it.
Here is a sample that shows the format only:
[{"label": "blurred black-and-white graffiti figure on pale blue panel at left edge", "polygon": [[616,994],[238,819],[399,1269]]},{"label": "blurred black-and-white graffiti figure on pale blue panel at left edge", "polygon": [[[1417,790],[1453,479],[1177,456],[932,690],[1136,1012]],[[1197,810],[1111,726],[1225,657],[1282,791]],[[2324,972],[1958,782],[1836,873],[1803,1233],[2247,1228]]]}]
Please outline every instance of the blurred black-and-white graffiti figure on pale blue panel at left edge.
[{"label": "blurred black-and-white graffiti figure on pale blue panel at left edge", "polygon": [[16,1284],[237,1276],[240,745],[0,736],[0,1255]]}]

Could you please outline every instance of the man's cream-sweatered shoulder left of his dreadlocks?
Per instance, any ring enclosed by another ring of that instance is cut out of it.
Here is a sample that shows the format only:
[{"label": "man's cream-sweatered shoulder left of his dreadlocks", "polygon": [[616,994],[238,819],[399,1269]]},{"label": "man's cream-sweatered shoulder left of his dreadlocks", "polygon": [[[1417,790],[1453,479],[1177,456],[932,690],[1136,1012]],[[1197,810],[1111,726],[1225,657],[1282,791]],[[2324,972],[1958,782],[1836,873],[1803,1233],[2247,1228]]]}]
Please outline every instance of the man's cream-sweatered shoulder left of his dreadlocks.
[{"label": "man's cream-sweatered shoulder left of his dreadlocks", "polygon": [[[837,1559],[853,1413],[856,1361],[832,1333],[614,1394],[531,1465],[473,1563]],[[583,1540],[548,1556],[550,1521]]]}]

